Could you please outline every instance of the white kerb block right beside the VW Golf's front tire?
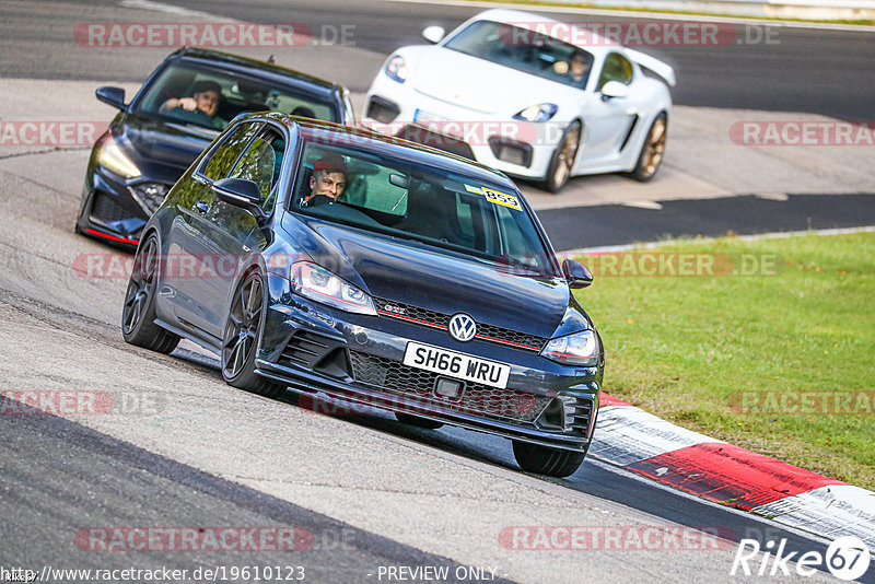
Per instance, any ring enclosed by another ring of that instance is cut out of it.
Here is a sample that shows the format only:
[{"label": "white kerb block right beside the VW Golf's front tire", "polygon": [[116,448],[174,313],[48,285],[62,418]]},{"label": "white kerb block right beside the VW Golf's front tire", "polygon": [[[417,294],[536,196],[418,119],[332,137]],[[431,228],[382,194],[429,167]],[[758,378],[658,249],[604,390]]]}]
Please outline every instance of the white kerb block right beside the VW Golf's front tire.
[{"label": "white kerb block right beside the VW Golf's front tire", "polygon": [[600,408],[590,452],[626,466],[702,442],[716,442],[704,434],[680,428],[631,406]]}]

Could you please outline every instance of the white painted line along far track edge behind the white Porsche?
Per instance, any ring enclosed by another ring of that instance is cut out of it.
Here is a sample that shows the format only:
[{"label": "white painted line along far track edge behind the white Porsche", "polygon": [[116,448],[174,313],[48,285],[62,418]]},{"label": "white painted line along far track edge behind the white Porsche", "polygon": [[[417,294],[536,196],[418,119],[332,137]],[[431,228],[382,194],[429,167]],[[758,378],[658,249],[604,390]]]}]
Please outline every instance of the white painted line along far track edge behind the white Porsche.
[{"label": "white painted line along far track edge behind the white Porsche", "polygon": [[646,12],[646,11],[632,11],[632,10],[609,10],[609,9],[593,9],[593,8],[576,8],[568,5],[546,5],[546,4],[522,4],[522,3],[505,3],[505,2],[477,2],[468,0],[387,0],[389,2],[405,3],[405,4],[438,4],[438,5],[454,5],[454,7],[471,7],[471,8],[503,8],[508,10],[521,10],[528,12],[565,12],[573,14],[591,14],[593,16],[616,16],[618,19],[650,19],[662,21],[681,21],[681,22],[726,22],[730,24],[750,24],[759,26],[780,26],[786,28],[817,28],[824,31],[850,31],[872,33],[875,32],[875,26],[858,25],[858,24],[830,24],[820,22],[798,22],[798,21],[773,21],[763,19],[742,19],[733,16],[715,16],[711,14],[672,14],[664,12]]}]

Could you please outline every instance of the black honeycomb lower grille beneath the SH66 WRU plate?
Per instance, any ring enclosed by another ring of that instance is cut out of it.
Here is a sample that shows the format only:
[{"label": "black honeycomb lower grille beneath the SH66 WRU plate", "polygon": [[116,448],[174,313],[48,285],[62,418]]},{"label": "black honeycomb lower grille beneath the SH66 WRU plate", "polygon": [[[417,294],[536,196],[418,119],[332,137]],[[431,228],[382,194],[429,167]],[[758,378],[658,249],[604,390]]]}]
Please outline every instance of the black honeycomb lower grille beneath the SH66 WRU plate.
[{"label": "black honeycomb lower grille beneath the SH66 WRU plate", "polygon": [[517,389],[500,389],[462,381],[460,397],[448,399],[433,393],[434,384],[441,377],[436,373],[358,351],[350,351],[350,358],[352,376],[357,383],[373,386],[385,394],[423,405],[432,404],[459,413],[532,422],[540,416],[551,399]]}]

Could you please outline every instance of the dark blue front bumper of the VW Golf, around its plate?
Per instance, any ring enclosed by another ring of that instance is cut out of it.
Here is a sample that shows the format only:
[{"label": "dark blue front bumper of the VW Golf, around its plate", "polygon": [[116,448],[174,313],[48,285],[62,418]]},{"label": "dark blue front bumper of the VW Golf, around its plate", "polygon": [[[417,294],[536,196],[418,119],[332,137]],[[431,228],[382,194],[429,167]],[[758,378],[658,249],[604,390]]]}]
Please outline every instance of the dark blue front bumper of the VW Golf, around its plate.
[{"label": "dark blue front bumper of the VW Golf, around its plate", "polygon": [[[412,413],[542,446],[585,452],[598,410],[602,367],[570,367],[530,350],[460,343],[444,331],[311,303],[271,279],[272,301],[256,361],[261,376],[299,394],[323,392],[365,408]],[[511,365],[506,389],[466,382],[438,395],[445,376],[404,365],[408,341]]]}]

